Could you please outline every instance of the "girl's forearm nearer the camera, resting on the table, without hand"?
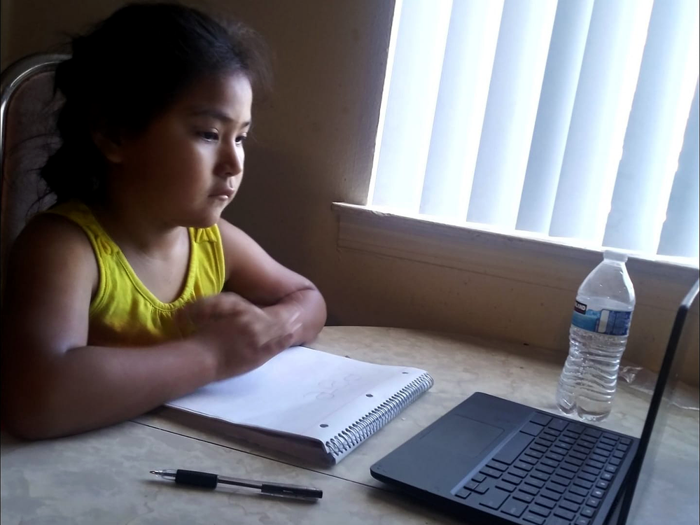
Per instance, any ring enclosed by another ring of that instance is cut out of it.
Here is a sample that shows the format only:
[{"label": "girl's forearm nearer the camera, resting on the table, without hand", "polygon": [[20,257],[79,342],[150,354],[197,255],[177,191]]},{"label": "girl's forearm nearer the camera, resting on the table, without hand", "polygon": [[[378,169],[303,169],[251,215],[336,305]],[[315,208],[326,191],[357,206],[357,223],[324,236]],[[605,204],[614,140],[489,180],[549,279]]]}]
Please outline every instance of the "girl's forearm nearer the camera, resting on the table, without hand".
[{"label": "girl's forearm nearer the camera, resting on the table, without hand", "polygon": [[30,439],[124,421],[216,377],[212,354],[194,338],[143,348],[83,346],[44,363],[13,365],[3,377],[3,423]]}]

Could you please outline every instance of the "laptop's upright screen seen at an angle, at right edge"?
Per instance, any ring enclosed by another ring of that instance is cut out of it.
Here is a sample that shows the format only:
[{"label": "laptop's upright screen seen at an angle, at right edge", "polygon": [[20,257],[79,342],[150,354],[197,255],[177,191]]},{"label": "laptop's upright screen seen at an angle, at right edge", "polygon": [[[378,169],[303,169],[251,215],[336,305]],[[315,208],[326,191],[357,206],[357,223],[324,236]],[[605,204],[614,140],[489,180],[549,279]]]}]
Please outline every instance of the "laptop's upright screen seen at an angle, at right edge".
[{"label": "laptop's upright screen seen at an angle, at right edge", "polygon": [[[700,520],[698,391],[678,381],[678,374],[683,367],[698,366],[696,359],[700,339],[697,283],[694,293],[694,299],[689,297],[692,306],[680,332],[678,351],[671,362],[668,382],[659,403],[636,489],[631,496],[627,524],[697,525]],[[694,421],[691,427],[694,432],[691,435],[682,433],[673,424],[678,418]],[[627,498],[629,496],[626,494]]]}]

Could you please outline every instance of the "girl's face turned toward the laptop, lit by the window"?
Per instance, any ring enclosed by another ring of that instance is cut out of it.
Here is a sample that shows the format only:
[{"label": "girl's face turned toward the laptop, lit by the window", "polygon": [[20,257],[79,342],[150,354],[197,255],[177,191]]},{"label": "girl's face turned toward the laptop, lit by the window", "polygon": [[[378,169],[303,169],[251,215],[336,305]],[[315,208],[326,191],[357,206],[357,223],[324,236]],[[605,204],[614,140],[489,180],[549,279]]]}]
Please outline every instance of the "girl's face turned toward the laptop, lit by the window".
[{"label": "girl's face turned toward the laptop, lit by the window", "polygon": [[119,146],[112,190],[163,225],[218,221],[243,178],[253,92],[241,73],[195,84]]}]

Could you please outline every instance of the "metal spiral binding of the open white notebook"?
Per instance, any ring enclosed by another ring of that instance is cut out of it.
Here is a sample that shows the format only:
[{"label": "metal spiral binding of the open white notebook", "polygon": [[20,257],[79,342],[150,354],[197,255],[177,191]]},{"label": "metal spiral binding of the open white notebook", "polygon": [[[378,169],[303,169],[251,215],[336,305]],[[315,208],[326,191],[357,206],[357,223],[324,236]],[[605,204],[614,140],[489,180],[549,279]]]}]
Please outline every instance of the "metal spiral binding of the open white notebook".
[{"label": "metal spiral binding of the open white notebook", "polygon": [[433,386],[433,378],[425,373],[417,377],[397,393],[382,402],[377,408],[362,416],[345,430],[340,431],[325,442],[325,447],[335,456],[342,456],[353,449],[397,416],[423,392]]}]

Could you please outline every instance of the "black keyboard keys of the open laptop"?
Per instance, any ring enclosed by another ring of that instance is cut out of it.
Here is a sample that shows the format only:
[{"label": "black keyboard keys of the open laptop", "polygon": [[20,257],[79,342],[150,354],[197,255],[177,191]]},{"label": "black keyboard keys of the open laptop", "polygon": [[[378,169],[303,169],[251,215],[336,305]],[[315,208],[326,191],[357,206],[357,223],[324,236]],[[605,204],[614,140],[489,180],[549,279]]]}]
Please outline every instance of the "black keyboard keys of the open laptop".
[{"label": "black keyboard keys of the open laptop", "polygon": [[590,525],[630,444],[537,412],[454,495],[515,523]]}]

